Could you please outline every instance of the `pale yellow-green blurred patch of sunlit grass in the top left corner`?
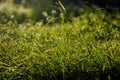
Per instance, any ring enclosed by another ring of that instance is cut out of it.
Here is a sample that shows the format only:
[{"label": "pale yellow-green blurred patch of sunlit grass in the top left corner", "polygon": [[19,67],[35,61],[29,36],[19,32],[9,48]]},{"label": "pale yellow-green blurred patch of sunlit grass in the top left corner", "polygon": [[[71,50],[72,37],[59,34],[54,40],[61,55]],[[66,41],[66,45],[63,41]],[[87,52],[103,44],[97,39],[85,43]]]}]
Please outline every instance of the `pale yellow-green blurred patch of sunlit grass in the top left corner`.
[{"label": "pale yellow-green blurred patch of sunlit grass in the top left corner", "polygon": [[[0,3],[0,13],[6,13],[9,15],[22,15],[24,14],[26,17],[32,16],[32,9],[25,8],[20,5],[11,5],[10,3]],[[9,6],[9,7],[7,7]],[[1,17],[1,16],[0,16]]]}]

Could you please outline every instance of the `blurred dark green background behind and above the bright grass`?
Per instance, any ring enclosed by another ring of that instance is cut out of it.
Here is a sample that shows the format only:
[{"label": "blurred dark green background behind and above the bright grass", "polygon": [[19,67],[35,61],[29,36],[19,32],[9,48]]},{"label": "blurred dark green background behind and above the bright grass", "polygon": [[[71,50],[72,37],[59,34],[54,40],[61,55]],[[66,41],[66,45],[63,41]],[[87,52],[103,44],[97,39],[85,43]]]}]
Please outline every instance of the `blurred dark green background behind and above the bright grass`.
[{"label": "blurred dark green background behind and above the bright grass", "polygon": [[[60,14],[56,5],[58,0],[0,0],[0,23],[14,19],[18,23],[25,21],[56,20]],[[61,0],[72,16],[80,16],[92,8],[108,13],[119,11],[120,0]]]}]

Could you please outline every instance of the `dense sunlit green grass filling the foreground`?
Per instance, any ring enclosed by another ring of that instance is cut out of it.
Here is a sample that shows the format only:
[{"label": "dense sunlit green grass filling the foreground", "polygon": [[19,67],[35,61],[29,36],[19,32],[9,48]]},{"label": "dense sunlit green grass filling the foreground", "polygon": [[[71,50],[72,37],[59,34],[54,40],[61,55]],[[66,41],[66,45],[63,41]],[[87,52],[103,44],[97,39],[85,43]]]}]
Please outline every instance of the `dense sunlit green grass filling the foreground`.
[{"label": "dense sunlit green grass filling the foreground", "polygon": [[119,80],[120,15],[0,24],[0,80]]}]

